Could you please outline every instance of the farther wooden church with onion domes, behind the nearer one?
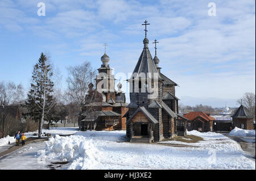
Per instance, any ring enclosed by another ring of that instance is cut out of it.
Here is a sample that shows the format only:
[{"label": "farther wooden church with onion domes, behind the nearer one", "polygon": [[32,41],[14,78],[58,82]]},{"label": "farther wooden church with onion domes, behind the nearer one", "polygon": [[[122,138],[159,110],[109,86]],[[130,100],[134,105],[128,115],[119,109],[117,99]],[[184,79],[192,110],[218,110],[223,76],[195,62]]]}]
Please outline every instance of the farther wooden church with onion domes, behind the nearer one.
[{"label": "farther wooden church with onion domes, behind the nearer one", "polygon": [[90,83],[89,92],[86,96],[86,110],[81,121],[81,129],[95,129],[97,131],[113,129],[126,129],[126,117],[123,117],[128,108],[125,93],[122,92],[122,85],[119,82],[115,90],[115,78],[112,69],[109,67],[109,56],[101,57],[102,65],[98,69],[96,78],[96,89]]}]

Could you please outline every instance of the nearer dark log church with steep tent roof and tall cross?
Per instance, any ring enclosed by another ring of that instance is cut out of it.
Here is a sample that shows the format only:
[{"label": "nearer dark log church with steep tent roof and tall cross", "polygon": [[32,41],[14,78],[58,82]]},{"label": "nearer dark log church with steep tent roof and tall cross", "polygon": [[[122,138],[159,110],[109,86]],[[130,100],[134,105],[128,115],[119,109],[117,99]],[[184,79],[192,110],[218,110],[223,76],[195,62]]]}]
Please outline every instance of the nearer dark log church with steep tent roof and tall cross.
[{"label": "nearer dark log church with steep tent roof and tall cross", "polygon": [[143,50],[130,83],[130,104],[126,112],[126,136],[131,142],[156,142],[186,134],[187,119],[178,115],[177,84],[161,73],[159,59],[148,49],[147,21]]}]

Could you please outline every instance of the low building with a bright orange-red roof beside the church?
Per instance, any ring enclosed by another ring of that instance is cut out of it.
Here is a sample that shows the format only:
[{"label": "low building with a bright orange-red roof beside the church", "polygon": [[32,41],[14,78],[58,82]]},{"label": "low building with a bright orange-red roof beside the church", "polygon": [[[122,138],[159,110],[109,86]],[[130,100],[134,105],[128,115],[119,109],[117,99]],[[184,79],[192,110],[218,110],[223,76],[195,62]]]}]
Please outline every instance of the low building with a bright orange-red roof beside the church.
[{"label": "low building with a bright orange-red roof beside the church", "polygon": [[187,129],[188,131],[196,130],[200,132],[212,132],[214,117],[209,113],[204,112],[189,112],[183,115],[188,119]]}]

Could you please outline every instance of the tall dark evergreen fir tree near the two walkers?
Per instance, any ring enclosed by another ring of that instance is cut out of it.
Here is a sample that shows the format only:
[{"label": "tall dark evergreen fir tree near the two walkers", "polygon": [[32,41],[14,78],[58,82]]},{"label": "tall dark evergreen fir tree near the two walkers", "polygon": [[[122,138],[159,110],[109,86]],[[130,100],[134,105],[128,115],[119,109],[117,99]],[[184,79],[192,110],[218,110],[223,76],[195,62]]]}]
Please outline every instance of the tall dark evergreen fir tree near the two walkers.
[{"label": "tall dark evergreen fir tree near the two walkers", "polygon": [[55,106],[53,97],[52,69],[47,57],[41,53],[38,63],[32,72],[31,89],[28,92],[26,107],[27,115],[39,122],[38,136],[41,137],[43,121],[50,121],[52,110]]}]

